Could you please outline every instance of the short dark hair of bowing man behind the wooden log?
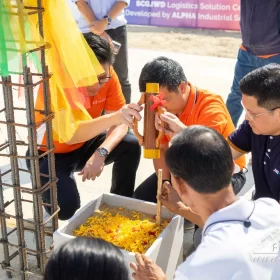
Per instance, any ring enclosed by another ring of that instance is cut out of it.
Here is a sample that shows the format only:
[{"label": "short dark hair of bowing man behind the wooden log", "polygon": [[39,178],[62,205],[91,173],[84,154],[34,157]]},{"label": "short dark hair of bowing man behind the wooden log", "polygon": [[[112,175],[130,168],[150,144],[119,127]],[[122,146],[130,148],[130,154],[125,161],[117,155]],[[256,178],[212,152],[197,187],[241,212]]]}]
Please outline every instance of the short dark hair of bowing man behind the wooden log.
[{"label": "short dark hair of bowing man behind the wooden log", "polygon": [[158,83],[167,87],[169,91],[178,92],[181,82],[187,83],[182,66],[177,61],[160,56],[143,67],[139,78],[139,90],[145,92],[146,83]]}]

